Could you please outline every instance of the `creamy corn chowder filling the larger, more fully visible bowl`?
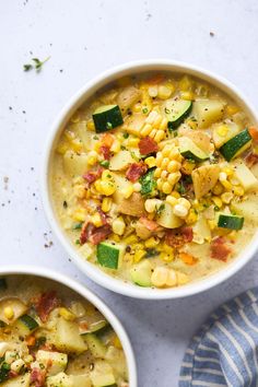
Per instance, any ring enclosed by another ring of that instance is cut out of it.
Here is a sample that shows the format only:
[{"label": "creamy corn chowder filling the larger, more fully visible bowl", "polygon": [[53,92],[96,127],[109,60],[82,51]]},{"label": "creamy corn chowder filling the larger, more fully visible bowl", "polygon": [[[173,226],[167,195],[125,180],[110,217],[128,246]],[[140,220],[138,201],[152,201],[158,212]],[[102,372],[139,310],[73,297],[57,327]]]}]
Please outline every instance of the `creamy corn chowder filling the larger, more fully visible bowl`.
[{"label": "creamy corn chowder filling the larger, more fully visible bowl", "polygon": [[201,80],[124,78],[67,124],[55,210],[82,259],[141,286],[183,285],[253,237],[257,141],[241,106]]}]

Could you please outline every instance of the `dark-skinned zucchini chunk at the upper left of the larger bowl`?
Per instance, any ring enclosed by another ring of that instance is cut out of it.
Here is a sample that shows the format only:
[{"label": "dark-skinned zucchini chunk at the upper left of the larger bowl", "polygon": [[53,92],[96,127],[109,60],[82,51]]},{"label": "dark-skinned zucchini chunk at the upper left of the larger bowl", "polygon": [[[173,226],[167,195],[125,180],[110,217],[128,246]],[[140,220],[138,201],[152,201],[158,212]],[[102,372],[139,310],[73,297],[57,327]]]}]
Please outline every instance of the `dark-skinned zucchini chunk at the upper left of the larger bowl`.
[{"label": "dark-skinned zucchini chunk at the upper left of the larger bowl", "polygon": [[97,133],[112,130],[124,122],[118,105],[104,105],[92,115]]}]

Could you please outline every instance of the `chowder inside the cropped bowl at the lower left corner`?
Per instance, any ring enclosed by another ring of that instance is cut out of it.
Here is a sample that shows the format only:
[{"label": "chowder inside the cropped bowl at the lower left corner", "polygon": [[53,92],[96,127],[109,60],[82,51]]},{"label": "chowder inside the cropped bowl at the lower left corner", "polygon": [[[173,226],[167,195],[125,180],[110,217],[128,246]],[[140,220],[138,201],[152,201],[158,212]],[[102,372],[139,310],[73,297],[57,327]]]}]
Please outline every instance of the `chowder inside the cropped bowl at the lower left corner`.
[{"label": "chowder inside the cropped bowl at the lower left corner", "polygon": [[0,279],[0,385],[129,387],[102,314],[71,290],[25,275]]}]

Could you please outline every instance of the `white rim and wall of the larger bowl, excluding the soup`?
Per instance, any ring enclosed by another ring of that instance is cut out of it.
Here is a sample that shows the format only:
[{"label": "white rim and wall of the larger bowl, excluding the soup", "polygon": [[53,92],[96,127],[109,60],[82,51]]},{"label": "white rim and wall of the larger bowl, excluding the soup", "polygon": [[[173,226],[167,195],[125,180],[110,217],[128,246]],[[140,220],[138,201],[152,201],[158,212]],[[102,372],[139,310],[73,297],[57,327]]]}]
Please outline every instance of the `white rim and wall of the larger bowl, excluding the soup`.
[{"label": "white rim and wall of the larger bowl, excluding the soup", "polygon": [[221,91],[225,92],[228,96],[235,99],[247,113],[254,122],[258,121],[258,117],[251,107],[250,103],[241,92],[238,92],[234,85],[232,85],[226,80],[210,73],[209,71],[202,70],[191,64],[175,62],[171,60],[144,60],[137,62],[129,62],[119,66],[115,69],[108,70],[101,75],[96,77],[94,80],[85,84],[62,108],[56,121],[50,129],[50,136],[47,142],[47,146],[44,153],[44,166],[43,166],[43,178],[42,178],[42,194],[44,208],[48,218],[48,221],[57,235],[58,239],[62,244],[63,248],[67,250],[69,256],[72,258],[73,262],[83,271],[90,279],[97,282],[99,285],[107,288],[114,292],[125,294],[137,298],[149,298],[149,300],[164,300],[164,298],[178,298],[200,293],[208,290],[219,283],[225,281],[234,273],[236,273],[241,268],[243,268],[254,256],[258,247],[258,238],[253,238],[248,246],[241,251],[239,256],[236,257],[231,263],[228,263],[225,270],[221,270],[213,273],[199,281],[186,284],[180,288],[173,289],[150,289],[140,288],[131,283],[125,283],[119,279],[115,279],[97,266],[94,266],[80,256],[78,250],[72,246],[66,236],[63,230],[61,228],[58,219],[55,214],[55,209],[52,206],[52,200],[49,189],[49,165],[51,163],[52,153],[60,133],[62,132],[66,124],[78,109],[78,107],[92,96],[97,90],[108,84],[109,82],[125,75],[129,74],[140,74],[146,71],[174,71],[177,73],[187,73],[190,75],[198,77],[214,86],[219,87]]}]

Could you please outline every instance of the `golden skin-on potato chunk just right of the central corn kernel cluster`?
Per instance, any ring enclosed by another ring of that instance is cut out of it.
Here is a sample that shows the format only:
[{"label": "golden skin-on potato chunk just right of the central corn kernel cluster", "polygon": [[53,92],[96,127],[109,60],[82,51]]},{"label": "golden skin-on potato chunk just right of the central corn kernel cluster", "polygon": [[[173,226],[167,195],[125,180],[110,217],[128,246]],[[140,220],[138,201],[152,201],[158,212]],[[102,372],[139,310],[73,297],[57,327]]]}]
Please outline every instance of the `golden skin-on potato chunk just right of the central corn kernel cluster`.
[{"label": "golden skin-on potato chunk just right of the central corn kernel cluster", "polygon": [[207,195],[214,187],[218,181],[220,167],[215,164],[203,165],[192,171],[191,177],[197,199],[200,199]]}]

